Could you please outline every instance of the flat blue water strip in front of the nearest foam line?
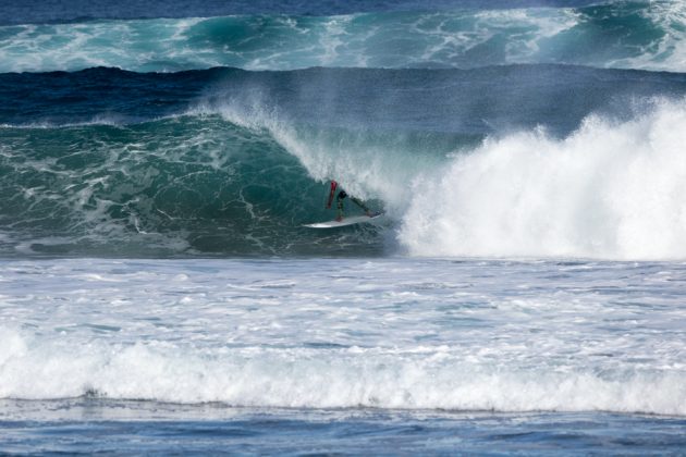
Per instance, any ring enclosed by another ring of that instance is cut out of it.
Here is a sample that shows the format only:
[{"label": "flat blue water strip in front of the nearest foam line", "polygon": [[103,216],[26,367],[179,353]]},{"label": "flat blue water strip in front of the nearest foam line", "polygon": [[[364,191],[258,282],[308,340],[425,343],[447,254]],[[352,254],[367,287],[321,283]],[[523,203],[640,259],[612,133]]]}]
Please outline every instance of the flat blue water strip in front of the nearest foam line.
[{"label": "flat blue water strip in front of the nearest foam line", "polygon": [[[683,418],[641,415],[260,410],[97,399],[2,406],[25,417],[0,420],[0,448],[11,454],[645,456],[681,455],[686,446]],[[640,432],[625,434],[634,428]]]}]

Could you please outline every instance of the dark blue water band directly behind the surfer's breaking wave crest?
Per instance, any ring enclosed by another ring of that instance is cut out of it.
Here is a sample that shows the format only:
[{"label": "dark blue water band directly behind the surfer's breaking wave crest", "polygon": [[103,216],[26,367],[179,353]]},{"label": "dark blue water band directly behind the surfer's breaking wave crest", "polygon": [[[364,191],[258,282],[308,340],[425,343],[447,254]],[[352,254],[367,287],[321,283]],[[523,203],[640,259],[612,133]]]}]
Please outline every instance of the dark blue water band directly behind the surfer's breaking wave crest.
[{"label": "dark blue water band directly behind the surfer's breaking wave crest", "polygon": [[[0,124],[136,124],[222,104],[275,111],[292,123],[485,136],[542,126],[566,136],[591,114],[630,119],[686,94],[682,73],[509,65],[478,70],[211,69],[0,74]],[[636,103],[644,102],[644,106]],[[516,109],[515,109],[516,107]]]}]

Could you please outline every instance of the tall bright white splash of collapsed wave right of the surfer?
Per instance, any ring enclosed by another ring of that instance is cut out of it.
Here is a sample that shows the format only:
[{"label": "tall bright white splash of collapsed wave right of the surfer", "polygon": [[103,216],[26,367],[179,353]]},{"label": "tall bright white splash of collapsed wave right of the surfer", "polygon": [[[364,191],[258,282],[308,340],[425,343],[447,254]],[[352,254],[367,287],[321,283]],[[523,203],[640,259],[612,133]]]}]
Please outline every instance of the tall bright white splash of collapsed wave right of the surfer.
[{"label": "tall bright white splash of collapsed wave right of the surfer", "polygon": [[686,258],[686,102],[566,139],[487,140],[417,178],[399,238],[415,256]]}]

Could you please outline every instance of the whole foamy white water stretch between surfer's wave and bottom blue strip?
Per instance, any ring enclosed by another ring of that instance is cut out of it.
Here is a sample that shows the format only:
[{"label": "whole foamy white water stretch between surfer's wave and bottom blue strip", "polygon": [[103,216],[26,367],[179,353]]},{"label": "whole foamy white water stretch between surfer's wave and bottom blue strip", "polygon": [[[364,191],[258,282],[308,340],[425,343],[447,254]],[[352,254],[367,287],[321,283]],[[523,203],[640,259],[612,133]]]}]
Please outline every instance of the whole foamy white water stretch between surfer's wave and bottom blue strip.
[{"label": "whole foamy white water stretch between surfer's wave and bottom blue strip", "polygon": [[[404,259],[191,265],[5,263],[4,300],[13,307],[3,320],[24,318],[2,329],[0,395],[686,413],[676,285],[683,267]],[[35,279],[23,279],[27,273]],[[550,292],[534,288],[541,283]],[[663,297],[636,304],[633,287]],[[111,306],[94,310],[98,301]]]}]

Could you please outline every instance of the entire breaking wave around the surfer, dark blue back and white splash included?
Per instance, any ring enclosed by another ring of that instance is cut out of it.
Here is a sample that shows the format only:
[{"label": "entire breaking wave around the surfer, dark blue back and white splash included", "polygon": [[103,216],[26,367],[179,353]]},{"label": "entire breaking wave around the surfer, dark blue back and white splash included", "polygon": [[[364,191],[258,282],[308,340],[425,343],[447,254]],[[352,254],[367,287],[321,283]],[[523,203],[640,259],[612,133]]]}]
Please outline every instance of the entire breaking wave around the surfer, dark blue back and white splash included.
[{"label": "entire breaking wave around the surfer, dark blue back and white splash included", "polygon": [[[686,257],[673,146],[685,108],[659,101],[686,94],[678,75],[535,65],[0,79],[12,100],[0,112],[4,255]],[[385,226],[302,227],[332,219],[332,176],[385,209]]]}]

